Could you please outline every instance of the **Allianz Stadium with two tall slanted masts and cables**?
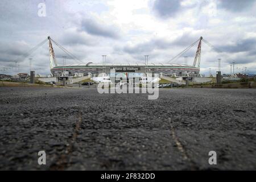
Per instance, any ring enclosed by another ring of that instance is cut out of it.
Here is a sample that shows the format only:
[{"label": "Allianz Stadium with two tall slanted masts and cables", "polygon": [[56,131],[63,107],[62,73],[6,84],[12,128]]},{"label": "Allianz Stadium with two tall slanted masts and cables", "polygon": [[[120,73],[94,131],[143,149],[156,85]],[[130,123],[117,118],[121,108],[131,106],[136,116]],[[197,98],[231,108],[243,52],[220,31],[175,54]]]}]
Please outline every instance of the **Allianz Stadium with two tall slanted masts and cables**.
[{"label": "Allianz Stadium with two tall slanted masts and cables", "polygon": [[[50,68],[51,73],[54,76],[85,76],[91,74],[93,77],[97,77],[100,75],[100,73],[107,73],[109,75],[111,70],[115,70],[115,72],[123,73],[126,76],[133,74],[133,75],[139,75],[142,73],[158,73],[160,75],[164,76],[199,76],[200,72],[200,57],[201,57],[201,40],[203,40],[203,37],[200,37],[196,42],[194,42],[191,46],[186,48],[184,51],[187,51],[189,48],[191,48],[193,45],[195,45],[197,42],[199,42],[195,59],[193,62],[193,65],[188,65],[185,61],[185,64],[177,64],[177,63],[148,63],[148,55],[145,55],[145,63],[125,63],[125,64],[106,64],[105,61],[105,55],[103,56],[103,62],[100,63],[92,63],[92,61],[89,61],[88,63],[81,63],[81,64],[64,64],[64,65],[58,65],[57,61],[55,59],[55,53],[53,51],[52,43],[55,43],[57,46],[62,48],[59,43],[56,43],[54,40],[52,40],[48,36],[49,40],[49,59],[50,59]],[[64,48],[62,48],[66,53],[68,51]],[[179,53],[180,56],[182,53]],[[71,53],[69,53],[71,57],[74,57]],[[176,56],[176,57],[177,57]],[[146,59],[147,57],[147,59]],[[174,59],[176,58],[174,57]],[[174,60],[172,59],[172,60]],[[171,61],[172,61],[171,60]]]}]

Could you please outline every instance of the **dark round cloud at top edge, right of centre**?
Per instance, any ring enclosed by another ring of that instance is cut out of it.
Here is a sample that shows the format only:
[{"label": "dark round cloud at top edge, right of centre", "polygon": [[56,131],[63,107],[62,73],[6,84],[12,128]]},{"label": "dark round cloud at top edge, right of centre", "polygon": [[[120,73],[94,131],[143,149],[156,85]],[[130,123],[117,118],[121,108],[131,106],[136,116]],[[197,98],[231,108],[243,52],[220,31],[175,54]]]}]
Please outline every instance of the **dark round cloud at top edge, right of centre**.
[{"label": "dark round cloud at top edge, right of centre", "polygon": [[180,10],[180,0],[156,0],[153,10],[162,18],[175,16]]}]

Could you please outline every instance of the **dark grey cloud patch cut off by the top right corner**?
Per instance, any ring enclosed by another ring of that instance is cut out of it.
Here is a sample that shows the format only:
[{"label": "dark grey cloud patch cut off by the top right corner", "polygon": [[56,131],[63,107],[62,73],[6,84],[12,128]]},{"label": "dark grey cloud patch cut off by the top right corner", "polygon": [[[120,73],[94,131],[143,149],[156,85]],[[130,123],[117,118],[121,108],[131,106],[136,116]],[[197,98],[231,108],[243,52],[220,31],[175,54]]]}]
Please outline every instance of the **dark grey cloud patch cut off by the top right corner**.
[{"label": "dark grey cloud patch cut off by the top right corner", "polygon": [[243,11],[253,6],[254,0],[220,0],[219,6],[229,11]]}]

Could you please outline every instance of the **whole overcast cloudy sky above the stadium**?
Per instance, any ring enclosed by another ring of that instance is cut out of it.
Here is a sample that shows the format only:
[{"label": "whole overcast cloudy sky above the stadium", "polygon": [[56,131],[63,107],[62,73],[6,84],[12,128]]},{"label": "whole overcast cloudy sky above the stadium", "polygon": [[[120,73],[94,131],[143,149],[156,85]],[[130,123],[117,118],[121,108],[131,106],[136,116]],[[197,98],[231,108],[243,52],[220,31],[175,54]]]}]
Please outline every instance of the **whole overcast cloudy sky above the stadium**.
[{"label": "whole overcast cloudy sky above the stadium", "polygon": [[[44,8],[45,7],[45,8]],[[45,10],[45,11],[44,11]],[[196,47],[170,60],[203,36],[200,72],[256,73],[256,1],[251,0],[1,0],[0,73],[32,69],[50,73],[48,42],[26,55],[47,36],[75,55],[66,64],[193,64]],[[67,56],[53,44],[57,63]],[[18,61],[15,63],[15,61]],[[16,64],[16,68],[15,68]]]}]

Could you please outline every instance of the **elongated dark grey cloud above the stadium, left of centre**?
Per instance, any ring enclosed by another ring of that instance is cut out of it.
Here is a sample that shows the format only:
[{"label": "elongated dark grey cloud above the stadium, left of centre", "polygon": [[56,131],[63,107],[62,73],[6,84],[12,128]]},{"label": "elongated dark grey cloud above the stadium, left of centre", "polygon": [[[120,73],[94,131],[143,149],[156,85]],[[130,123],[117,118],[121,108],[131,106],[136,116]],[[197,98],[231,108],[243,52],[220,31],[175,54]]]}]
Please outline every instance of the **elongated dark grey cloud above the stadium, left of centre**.
[{"label": "elongated dark grey cloud above the stadium, left of centre", "polygon": [[116,27],[106,26],[105,24],[97,23],[92,19],[83,19],[81,22],[81,30],[88,34],[103,36],[106,38],[118,39],[119,32]]}]

